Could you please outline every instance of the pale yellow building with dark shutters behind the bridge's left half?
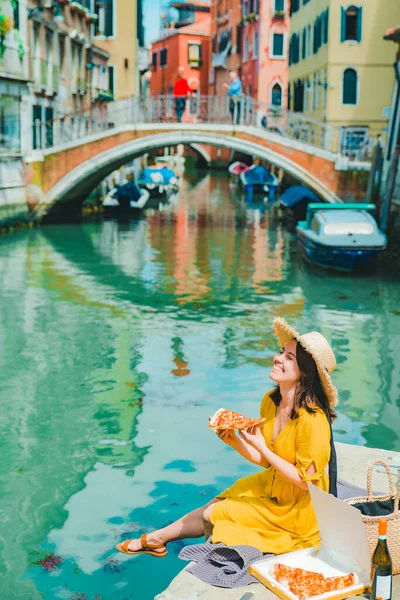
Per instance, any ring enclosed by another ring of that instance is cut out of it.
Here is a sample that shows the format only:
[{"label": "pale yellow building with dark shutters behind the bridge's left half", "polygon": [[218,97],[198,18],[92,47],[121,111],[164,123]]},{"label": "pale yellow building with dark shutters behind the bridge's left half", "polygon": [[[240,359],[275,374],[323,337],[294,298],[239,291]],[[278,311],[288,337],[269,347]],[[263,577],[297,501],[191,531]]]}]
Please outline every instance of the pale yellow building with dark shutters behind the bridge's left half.
[{"label": "pale yellow building with dark shutters behind the bridge's left half", "polygon": [[96,46],[110,54],[116,100],[139,91],[139,43],[143,0],[96,1]]}]

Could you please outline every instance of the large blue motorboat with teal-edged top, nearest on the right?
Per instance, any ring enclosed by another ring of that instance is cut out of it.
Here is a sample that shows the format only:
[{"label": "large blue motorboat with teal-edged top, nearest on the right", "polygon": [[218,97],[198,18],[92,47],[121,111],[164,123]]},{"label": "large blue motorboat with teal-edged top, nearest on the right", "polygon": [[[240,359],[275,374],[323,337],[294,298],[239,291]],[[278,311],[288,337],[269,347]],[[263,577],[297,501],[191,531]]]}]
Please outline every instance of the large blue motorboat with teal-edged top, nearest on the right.
[{"label": "large blue motorboat with teal-edged top, nearest on the right", "polygon": [[374,204],[311,203],[296,227],[304,257],[320,267],[352,272],[371,266],[387,244]]}]

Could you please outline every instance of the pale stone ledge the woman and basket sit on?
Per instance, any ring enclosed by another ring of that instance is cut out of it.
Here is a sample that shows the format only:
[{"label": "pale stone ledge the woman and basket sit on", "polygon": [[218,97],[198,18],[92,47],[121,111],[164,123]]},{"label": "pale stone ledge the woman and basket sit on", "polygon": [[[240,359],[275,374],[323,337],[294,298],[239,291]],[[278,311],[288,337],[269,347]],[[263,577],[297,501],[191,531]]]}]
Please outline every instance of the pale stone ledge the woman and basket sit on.
[{"label": "pale stone ledge the woman and basket sit on", "polygon": [[[364,446],[336,444],[340,478],[360,487],[366,486],[367,468],[375,458],[384,458],[393,465],[394,481],[400,477],[400,452],[378,450]],[[396,468],[397,467],[397,468]],[[398,483],[398,479],[397,479]],[[388,489],[386,472],[377,467],[374,475],[374,489]],[[179,573],[168,588],[156,596],[155,600],[241,600],[245,593],[252,594],[246,600],[276,600],[277,596],[261,584],[252,584],[236,589],[217,588],[188,573]],[[355,598],[355,596],[352,596]],[[357,598],[361,598],[357,596]],[[400,600],[400,575],[394,578],[392,600]]]}]

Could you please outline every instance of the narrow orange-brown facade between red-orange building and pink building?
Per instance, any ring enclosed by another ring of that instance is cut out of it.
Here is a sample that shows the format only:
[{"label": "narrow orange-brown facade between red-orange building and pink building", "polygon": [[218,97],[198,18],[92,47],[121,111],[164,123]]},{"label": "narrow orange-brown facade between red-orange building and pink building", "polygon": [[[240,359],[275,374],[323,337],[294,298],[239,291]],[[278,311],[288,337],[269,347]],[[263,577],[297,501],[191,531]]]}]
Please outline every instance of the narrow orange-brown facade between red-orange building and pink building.
[{"label": "narrow orange-brown facade between red-orange building and pink building", "polygon": [[229,70],[241,73],[242,8],[234,0],[214,0],[211,5],[211,68],[209,94],[226,94]]}]

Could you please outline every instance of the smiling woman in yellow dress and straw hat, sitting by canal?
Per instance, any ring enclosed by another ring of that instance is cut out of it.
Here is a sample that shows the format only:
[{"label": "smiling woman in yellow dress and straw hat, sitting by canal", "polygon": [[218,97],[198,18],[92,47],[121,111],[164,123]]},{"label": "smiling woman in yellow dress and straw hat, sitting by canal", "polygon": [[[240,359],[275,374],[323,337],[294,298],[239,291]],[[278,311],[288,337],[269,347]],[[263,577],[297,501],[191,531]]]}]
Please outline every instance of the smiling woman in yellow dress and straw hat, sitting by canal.
[{"label": "smiling woman in yellow dress and straw hat, sitting by canal", "polygon": [[320,333],[301,336],[281,318],[273,327],[282,349],[270,374],[277,385],[261,402],[265,422],[239,436],[232,430],[217,433],[263,470],[239,479],[168,527],[118,544],[120,552],[162,557],[168,542],[203,535],[212,535],[213,543],[255,546],[273,554],[318,545],[307,482],[336,495],[331,423],[337,390],[329,375],[335,355]]}]

